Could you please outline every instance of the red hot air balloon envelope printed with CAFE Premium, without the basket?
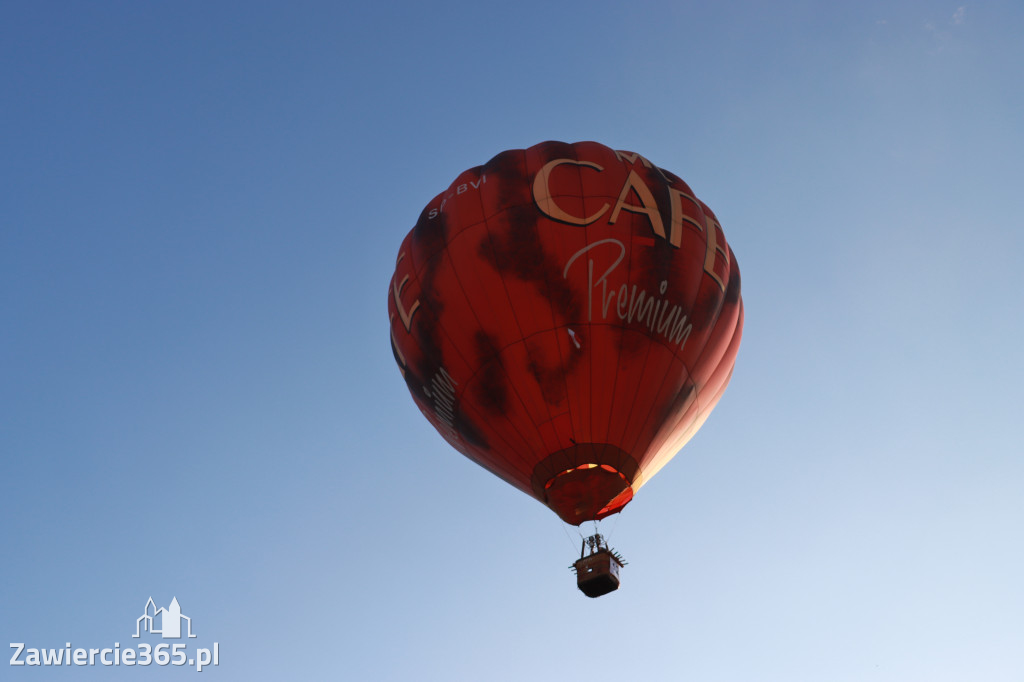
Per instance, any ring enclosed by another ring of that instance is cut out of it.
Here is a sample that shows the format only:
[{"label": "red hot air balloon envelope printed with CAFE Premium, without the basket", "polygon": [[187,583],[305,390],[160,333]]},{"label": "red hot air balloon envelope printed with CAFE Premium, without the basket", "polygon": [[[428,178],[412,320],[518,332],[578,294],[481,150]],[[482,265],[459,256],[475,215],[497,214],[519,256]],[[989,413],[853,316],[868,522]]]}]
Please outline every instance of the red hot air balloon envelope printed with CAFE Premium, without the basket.
[{"label": "red hot air balloon envelope printed with CAFE Premium, without the basket", "polygon": [[388,312],[434,428],[577,525],[621,511],[700,428],[743,326],[715,214],[597,142],[456,178],[402,242]]}]

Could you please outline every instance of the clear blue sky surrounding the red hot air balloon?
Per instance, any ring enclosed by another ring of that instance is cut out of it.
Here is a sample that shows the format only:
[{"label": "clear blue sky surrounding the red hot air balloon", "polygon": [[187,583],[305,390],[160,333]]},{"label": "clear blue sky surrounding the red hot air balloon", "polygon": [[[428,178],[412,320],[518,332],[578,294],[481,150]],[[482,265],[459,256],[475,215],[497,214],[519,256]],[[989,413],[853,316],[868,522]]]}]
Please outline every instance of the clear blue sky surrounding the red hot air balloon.
[{"label": "clear blue sky surrounding the red hot air balloon", "polygon": [[[3,646],[156,645],[152,596],[225,680],[1024,679],[1022,28],[5,3]],[[577,530],[451,450],[388,342],[422,207],[546,139],[680,175],[743,274],[732,384],[602,522],[630,563],[597,600]]]}]

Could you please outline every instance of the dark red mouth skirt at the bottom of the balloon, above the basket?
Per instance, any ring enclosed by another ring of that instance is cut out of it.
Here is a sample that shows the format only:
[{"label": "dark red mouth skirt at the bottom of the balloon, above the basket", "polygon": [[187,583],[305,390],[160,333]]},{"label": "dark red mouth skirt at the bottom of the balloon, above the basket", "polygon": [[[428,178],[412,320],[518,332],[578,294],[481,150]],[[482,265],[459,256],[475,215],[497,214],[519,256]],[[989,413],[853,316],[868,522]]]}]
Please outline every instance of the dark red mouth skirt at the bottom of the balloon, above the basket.
[{"label": "dark red mouth skirt at the bottom of the balloon, above the basket", "polygon": [[581,443],[542,461],[534,493],[566,523],[580,525],[622,511],[633,499],[636,460],[605,443]]}]

